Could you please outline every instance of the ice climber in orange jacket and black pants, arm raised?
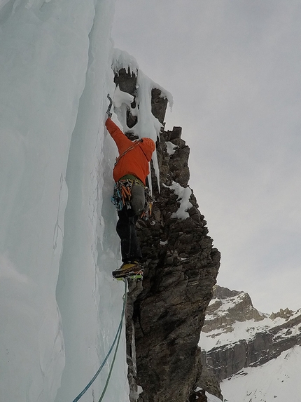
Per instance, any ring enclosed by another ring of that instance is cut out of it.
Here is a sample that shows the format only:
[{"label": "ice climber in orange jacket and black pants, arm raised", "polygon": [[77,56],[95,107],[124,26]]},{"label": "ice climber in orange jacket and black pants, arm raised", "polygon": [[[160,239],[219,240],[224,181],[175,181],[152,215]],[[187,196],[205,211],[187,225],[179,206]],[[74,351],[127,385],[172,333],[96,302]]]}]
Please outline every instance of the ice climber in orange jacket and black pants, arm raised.
[{"label": "ice climber in orange jacket and black pants, arm raised", "polygon": [[114,199],[119,218],[116,231],[120,237],[123,260],[121,267],[112,274],[114,278],[123,278],[141,275],[143,272],[143,267],[139,264],[142,255],[135,225],[145,208],[146,177],[155,142],[151,138],[132,142],[111,120],[110,107],[107,114],[106,128],[119,152],[113,169],[113,179],[116,182]]}]

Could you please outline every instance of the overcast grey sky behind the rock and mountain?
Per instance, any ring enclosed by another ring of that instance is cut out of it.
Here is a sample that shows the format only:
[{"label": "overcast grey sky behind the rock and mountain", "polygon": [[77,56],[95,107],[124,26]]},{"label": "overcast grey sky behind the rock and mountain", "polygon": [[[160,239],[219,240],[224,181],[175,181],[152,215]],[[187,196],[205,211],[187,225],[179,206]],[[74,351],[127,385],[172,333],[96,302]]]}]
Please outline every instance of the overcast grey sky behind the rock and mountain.
[{"label": "overcast grey sky behind the rock and mountain", "polygon": [[301,1],[116,0],[112,36],[174,96],[218,284],[301,308]]}]

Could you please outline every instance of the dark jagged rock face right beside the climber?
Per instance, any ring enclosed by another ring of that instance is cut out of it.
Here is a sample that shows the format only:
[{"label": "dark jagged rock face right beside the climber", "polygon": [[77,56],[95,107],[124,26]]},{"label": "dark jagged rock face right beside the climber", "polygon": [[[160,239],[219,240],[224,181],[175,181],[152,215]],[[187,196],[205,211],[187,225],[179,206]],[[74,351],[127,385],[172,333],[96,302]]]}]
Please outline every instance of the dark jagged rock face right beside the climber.
[{"label": "dark jagged rock face right beside the climber", "polygon": [[[126,74],[123,77],[127,79]],[[125,91],[121,79],[119,74],[120,89]],[[167,100],[154,89],[152,111],[161,122],[166,107]],[[174,154],[167,152],[166,142],[172,143]],[[181,128],[162,132],[157,154],[160,189],[152,171],[152,219],[137,224],[144,281],[130,283],[127,309],[130,397],[139,402],[200,401],[194,396],[202,370],[197,344],[221,256],[188,188],[189,148],[181,139]],[[174,183],[190,194],[185,219],[173,215],[181,205],[171,188]],[[144,390],[139,396],[136,379]]]}]

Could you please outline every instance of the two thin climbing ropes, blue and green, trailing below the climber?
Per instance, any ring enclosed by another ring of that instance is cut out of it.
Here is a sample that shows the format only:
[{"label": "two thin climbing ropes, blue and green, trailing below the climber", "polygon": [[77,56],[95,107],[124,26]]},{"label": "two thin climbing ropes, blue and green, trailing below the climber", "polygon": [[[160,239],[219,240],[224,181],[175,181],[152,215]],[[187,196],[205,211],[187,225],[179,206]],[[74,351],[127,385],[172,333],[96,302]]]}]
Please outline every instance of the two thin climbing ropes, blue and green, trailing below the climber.
[{"label": "two thin climbing ropes, blue and green, trailing below the climber", "polygon": [[118,351],[118,347],[119,347],[119,343],[120,343],[120,337],[121,337],[121,333],[122,333],[122,330],[123,330],[123,319],[125,318],[125,308],[126,308],[126,306],[127,306],[127,279],[125,279],[125,294],[123,295],[123,312],[121,314],[120,323],[119,323],[118,330],[117,330],[117,333],[115,335],[115,338],[113,340],[113,343],[111,344],[111,347],[110,347],[110,349],[108,351],[108,354],[104,358],[104,361],[102,362],[102,365],[99,367],[99,369],[95,373],[94,377],[92,377],[92,380],[89,382],[89,384],[87,384],[87,386],[83,389],[83,391],[81,391],[80,394],[78,394],[78,396],[76,396],[76,398],[73,400],[73,402],[77,402],[83,396],[83,394],[85,394],[85,392],[91,387],[91,385],[96,380],[96,378],[99,375],[99,373],[102,371],[102,368],[104,368],[104,365],[106,364],[106,361],[108,360],[108,358],[109,358],[109,356],[110,356],[110,354],[111,354],[111,352],[113,350],[113,347],[115,346],[115,344],[117,342],[116,349],[115,349],[114,356],[113,356],[113,360],[112,360],[112,363],[111,363],[111,368],[109,370],[108,377],[106,378],[106,384],[104,386],[104,390],[102,391],[102,395],[99,398],[99,402],[102,402],[102,400],[104,398],[104,394],[106,394],[106,389],[108,388],[110,377],[111,377],[111,374],[112,374],[112,371],[113,371],[113,366],[114,366],[114,363],[115,363],[115,360],[116,360],[116,354],[117,354],[117,351]]}]

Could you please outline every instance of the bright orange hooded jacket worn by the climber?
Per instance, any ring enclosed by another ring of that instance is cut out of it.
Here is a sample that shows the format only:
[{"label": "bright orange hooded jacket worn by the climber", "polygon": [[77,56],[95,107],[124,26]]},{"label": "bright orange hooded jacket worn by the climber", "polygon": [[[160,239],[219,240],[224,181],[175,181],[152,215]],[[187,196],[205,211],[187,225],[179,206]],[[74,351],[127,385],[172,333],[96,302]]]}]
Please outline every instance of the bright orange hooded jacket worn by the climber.
[{"label": "bright orange hooded jacket worn by the climber", "polygon": [[[123,152],[134,145],[134,142],[129,140],[110,118],[106,120],[106,128],[116,142],[119,156],[123,155]],[[139,142],[136,147],[130,149],[130,151],[120,157],[113,170],[113,178],[116,182],[125,175],[134,175],[144,185],[146,184],[146,177],[149,173],[149,162],[155,151],[155,142],[151,138],[141,138],[141,140],[143,141]]]}]

